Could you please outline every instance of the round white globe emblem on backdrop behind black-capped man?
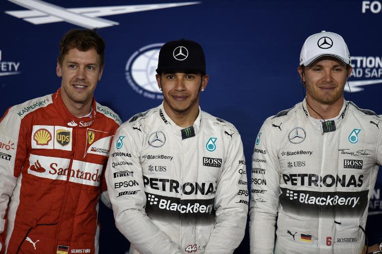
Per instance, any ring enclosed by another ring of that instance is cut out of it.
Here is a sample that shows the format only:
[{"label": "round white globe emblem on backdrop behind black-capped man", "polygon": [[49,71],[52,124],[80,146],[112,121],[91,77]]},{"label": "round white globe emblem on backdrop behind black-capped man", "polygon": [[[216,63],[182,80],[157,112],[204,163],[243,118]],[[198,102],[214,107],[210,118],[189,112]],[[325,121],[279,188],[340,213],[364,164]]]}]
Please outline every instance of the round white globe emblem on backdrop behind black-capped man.
[{"label": "round white globe emblem on backdrop behind black-capped man", "polygon": [[147,45],[135,51],[126,64],[126,80],[134,91],[151,99],[163,99],[155,78],[159,51],[163,43]]}]

